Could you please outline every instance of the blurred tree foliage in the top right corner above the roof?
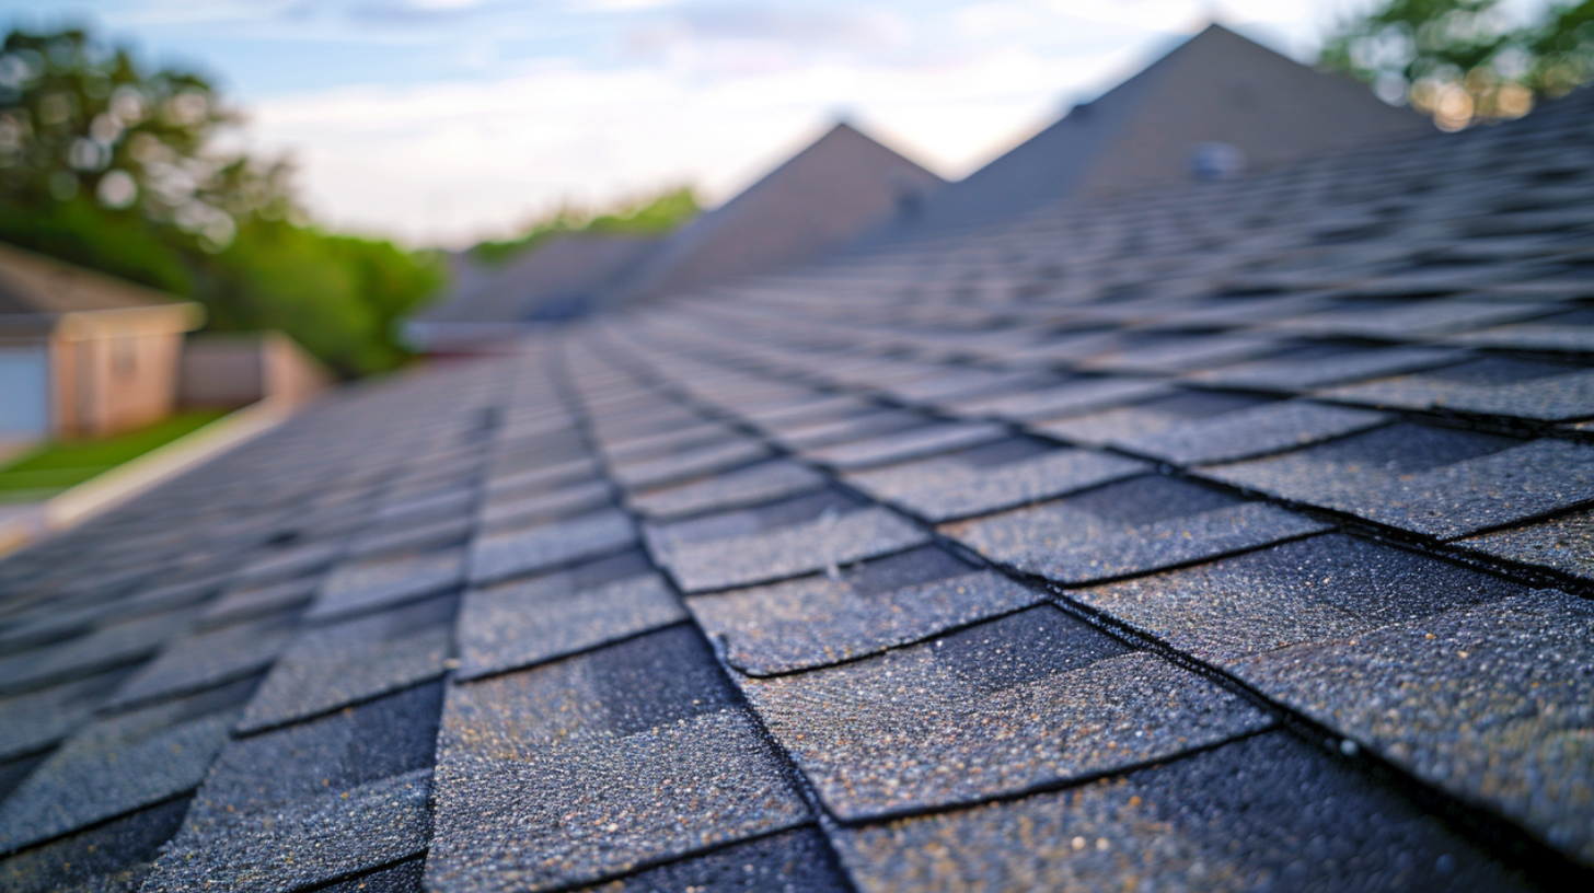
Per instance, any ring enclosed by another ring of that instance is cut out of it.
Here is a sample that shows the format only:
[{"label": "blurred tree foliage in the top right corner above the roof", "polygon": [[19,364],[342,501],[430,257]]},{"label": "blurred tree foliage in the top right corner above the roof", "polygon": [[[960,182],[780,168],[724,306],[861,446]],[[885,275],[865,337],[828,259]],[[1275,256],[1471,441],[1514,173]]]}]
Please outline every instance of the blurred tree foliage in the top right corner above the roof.
[{"label": "blurred tree foliage in the top right corner above the roof", "polygon": [[1519,118],[1541,96],[1594,78],[1594,0],[1559,0],[1517,18],[1508,0],[1388,0],[1347,22],[1320,65],[1411,102],[1444,129]]}]

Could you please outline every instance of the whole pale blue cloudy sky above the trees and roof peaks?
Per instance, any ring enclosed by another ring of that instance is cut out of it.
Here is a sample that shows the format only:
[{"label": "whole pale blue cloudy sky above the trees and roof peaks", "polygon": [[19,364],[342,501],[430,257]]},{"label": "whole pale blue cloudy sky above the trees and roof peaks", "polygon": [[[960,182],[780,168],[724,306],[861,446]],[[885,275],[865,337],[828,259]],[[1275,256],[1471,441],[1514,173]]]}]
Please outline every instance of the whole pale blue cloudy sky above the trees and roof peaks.
[{"label": "whole pale blue cloudy sky above the trees and roof peaks", "polygon": [[1301,59],[1369,0],[0,0],[214,77],[322,220],[413,244],[673,183],[846,116],[961,177],[1218,18]]}]

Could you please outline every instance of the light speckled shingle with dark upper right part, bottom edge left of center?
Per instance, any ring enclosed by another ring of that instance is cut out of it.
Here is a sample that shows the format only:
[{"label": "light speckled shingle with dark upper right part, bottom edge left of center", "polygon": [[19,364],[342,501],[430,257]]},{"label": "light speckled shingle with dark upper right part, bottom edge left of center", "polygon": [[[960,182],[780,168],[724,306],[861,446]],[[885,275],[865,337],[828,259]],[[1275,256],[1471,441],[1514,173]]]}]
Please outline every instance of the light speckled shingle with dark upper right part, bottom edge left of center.
[{"label": "light speckled shingle with dark upper right part, bottom edge left of center", "polygon": [[591,883],[808,821],[690,627],[454,686],[427,887]]}]

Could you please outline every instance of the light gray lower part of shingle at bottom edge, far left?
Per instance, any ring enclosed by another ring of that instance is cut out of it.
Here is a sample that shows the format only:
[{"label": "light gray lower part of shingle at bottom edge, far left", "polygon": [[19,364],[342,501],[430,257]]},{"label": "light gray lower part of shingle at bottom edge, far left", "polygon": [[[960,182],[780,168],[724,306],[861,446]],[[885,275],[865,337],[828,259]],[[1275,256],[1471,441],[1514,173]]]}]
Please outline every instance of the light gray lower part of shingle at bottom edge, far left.
[{"label": "light gray lower part of shingle at bottom edge, far left", "polygon": [[145,893],[289,893],[426,848],[432,772],[419,769],[273,808],[228,812],[196,797]]}]

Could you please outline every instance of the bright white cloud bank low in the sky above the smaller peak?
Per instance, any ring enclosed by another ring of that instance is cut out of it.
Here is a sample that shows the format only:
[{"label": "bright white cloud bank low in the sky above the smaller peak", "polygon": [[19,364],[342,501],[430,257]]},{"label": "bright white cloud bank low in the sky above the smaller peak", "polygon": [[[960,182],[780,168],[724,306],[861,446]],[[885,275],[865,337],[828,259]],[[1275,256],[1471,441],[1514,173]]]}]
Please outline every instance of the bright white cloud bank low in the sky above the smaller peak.
[{"label": "bright white cloud bank low in the sky above the smaller peak", "polygon": [[698,65],[545,64],[489,83],[357,88],[261,102],[255,145],[290,150],[330,223],[411,242],[510,231],[561,201],[693,182],[724,199],[838,108],[961,175],[1089,89],[1119,54],[1004,48],[918,65],[840,59],[705,77]]}]

